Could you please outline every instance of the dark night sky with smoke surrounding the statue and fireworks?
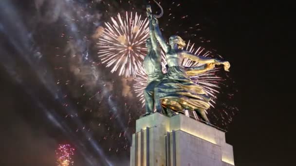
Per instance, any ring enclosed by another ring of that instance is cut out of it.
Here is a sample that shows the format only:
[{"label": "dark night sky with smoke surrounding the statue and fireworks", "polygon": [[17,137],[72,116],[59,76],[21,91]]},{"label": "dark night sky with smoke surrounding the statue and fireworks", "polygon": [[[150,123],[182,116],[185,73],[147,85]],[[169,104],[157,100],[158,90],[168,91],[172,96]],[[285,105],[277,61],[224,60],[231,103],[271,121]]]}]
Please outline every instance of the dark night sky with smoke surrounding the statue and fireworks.
[{"label": "dark night sky with smoke surrounding the statue and fireworks", "polygon": [[[1,166],[55,166],[61,143],[76,149],[74,166],[129,165],[130,136],[143,109],[130,95],[132,82],[99,63],[91,36],[110,15],[132,7],[145,11],[145,0],[66,1],[0,2]],[[287,16],[292,4],[175,0],[179,2],[174,14],[188,15],[184,24],[200,23],[198,36],[211,41],[195,42],[231,63],[239,112],[226,141],[234,147],[236,166],[291,165],[295,51],[290,51],[294,38],[289,32],[294,19]],[[180,20],[165,28],[171,3],[163,0],[165,16],[159,19],[166,37],[184,31]],[[188,40],[190,34],[179,35]],[[81,56],[69,58],[73,53]],[[100,95],[89,100],[97,91]]]}]

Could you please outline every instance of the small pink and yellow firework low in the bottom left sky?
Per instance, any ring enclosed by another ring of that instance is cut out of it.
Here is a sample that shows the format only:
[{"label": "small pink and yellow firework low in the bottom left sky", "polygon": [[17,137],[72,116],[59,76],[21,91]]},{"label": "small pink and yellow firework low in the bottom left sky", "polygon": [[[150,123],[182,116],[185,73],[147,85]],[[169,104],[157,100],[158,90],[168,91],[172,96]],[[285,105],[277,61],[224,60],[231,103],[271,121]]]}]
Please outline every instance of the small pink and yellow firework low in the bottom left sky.
[{"label": "small pink and yellow firework low in the bottom left sky", "polygon": [[73,166],[72,156],[74,155],[74,150],[69,144],[59,145],[56,150],[57,166]]}]

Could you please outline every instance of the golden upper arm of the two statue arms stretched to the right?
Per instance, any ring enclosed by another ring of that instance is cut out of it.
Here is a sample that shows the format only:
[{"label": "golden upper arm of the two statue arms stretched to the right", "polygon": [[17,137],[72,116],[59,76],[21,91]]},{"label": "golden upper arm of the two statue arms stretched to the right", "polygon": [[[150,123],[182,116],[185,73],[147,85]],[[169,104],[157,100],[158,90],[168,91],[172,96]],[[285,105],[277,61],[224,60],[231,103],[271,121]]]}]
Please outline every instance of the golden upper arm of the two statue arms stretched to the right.
[{"label": "golden upper arm of the two statue arms stretched to the right", "polygon": [[203,63],[203,64],[213,64],[214,66],[215,65],[224,65],[224,70],[229,71],[228,69],[230,67],[230,63],[228,61],[220,61],[217,59],[199,57],[199,56],[193,55],[187,51],[183,51],[183,56],[185,58],[192,60],[192,61],[196,61],[196,62]]}]

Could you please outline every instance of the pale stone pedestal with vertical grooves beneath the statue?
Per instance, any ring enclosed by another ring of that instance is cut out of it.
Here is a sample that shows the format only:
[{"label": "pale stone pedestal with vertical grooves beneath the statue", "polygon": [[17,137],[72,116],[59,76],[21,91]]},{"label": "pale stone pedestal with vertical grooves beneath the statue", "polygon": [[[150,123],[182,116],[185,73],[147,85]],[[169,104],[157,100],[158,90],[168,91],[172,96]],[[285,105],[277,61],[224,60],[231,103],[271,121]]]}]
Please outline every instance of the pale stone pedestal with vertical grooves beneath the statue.
[{"label": "pale stone pedestal with vertical grooves beneath the statue", "polygon": [[182,114],[136,121],[130,166],[234,166],[225,133]]}]

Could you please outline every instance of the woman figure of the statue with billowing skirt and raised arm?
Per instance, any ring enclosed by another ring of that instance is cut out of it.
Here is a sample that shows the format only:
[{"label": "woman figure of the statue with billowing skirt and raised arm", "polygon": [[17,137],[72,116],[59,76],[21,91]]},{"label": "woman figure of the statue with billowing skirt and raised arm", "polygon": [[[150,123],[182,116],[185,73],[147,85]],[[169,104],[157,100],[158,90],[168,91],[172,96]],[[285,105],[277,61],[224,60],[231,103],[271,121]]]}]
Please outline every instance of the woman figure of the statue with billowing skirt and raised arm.
[{"label": "woman figure of the statue with billowing skirt and raised arm", "polygon": [[[190,80],[189,76],[212,69],[215,65],[224,65],[224,69],[228,71],[230,67],[229,62],[217,59],[204,59],[182,50],[186,44],[177,35],[170,36],[169,44],[167,44],[160,32],[158,20],[152,17],[151,22],[153,27],[150,31],[154,33],[161,47],[166,52],[166,62],[168,65],[165,77],[154,89],[154,103],[157,112],[164,113],[166,109],[174,111],[186,109],[195,111],[204,121],[209,122],[205,110],[210,107],[210,98],[201,86]],[[205,65],[203,68],[188,70],[182,66],[184,58]]]}]

